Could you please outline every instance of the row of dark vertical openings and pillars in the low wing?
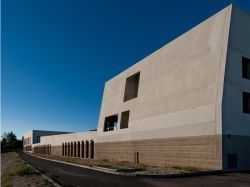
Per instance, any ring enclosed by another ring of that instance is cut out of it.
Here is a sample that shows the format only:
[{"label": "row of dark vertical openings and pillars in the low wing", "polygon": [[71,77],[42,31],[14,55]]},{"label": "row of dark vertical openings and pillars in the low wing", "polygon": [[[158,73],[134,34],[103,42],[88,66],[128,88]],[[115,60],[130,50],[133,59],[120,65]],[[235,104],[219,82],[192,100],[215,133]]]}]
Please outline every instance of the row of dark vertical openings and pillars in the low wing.
[{"label": "row of dark vertical openings and pillars in the low wing", "polygon": [[62,143],[62,156],[94,158],[94,141],[77,141]]}]

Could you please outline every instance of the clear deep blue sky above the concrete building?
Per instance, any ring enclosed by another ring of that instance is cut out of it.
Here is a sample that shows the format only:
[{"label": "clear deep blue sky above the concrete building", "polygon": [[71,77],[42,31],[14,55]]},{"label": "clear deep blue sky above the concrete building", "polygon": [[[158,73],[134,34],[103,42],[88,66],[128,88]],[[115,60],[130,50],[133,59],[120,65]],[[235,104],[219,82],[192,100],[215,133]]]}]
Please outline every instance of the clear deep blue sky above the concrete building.
[{"label": "clear deep blue sky above the concrete building", "polygon": [[234,2],[2,0],[2,132],[85,131],[104,83]]}]

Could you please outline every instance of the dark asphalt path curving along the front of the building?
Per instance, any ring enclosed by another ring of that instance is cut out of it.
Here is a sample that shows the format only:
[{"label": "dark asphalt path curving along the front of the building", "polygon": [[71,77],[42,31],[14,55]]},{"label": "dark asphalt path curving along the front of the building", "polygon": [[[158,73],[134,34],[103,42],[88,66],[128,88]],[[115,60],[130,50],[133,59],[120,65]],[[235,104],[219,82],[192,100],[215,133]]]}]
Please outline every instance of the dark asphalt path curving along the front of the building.
[{"label": "dark asphalt path curving along the front of the building", "polygon": [[62,186],[91,186],[91,187],[249,187],[250,173],[227,173],[221,175],[209,175],[186,178],[143,178],[127,177],[102,173],[86,168],[71,166],[58,162],[40,159],[25,153],[20,156],[41,172],[50,175]]}]

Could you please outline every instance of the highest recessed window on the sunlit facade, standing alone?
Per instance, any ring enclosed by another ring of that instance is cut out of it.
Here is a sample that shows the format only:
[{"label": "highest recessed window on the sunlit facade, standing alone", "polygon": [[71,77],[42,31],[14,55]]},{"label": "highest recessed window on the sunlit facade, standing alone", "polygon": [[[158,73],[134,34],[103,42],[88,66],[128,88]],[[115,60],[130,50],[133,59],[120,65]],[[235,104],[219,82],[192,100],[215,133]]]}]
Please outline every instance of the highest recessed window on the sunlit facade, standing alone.
[{"label": "highest recessed window on the sunlit facade, standing alone", "polygon": [[134,99],[138,94],[140,72],[130,76],[126,80],[123,102]]}]

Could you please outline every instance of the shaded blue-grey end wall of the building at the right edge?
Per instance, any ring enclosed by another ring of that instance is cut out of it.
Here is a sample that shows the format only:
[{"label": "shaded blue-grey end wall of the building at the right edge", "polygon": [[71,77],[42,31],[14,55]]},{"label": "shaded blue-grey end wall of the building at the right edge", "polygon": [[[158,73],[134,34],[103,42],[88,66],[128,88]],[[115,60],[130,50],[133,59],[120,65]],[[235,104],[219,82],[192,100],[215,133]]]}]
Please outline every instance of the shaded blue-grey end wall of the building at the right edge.
[{"label": "shaded blue-grey end wall of the building at the right edge", "polygon": [[[250,93],[250,80],[242,78],[242,56],[250,58],[250,15],[234,7],[230,26],[223,92],[223,160],[238,155],[241,169],[250,168],[250,114],[243,113],[242,92]],[[228,135],[228,136],[227,136]]]}]

